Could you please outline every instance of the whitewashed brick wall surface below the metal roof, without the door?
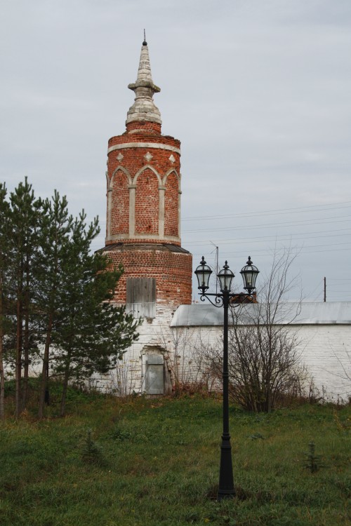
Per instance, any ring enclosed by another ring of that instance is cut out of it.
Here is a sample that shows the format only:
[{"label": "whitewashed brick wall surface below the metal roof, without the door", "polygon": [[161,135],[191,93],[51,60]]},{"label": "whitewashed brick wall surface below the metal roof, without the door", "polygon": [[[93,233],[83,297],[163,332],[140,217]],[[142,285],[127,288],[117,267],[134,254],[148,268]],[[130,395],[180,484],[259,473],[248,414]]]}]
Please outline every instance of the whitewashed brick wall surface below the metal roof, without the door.
[{"label": "whitewashed brick wall surface below the metal roof, without the door", "polygon": [[[192,384],[198,382],[208,386],[211,379],[201,362],[204,347],[222,346],[223,328],[176,327],[169,323],[174,309],[160,309],[152,323],[143,321],[140,337],[119,364],[119,372],[110,380],[100,379],[98,385],[106,389],[127,393],[146,391],[145,371],[147,355],[159,354],[164,358],[168,371],[165,393],[170,394],[176,382]],[[338,397],[347,400],[351,396],[351,325],[291,325],[290,330],[298,334],[300,363],[308,372],[306,386],[312,382],[326,399]],[[349,378],[347,378],[347,375]],[[123,385],[118,387],[117,382]]]}]

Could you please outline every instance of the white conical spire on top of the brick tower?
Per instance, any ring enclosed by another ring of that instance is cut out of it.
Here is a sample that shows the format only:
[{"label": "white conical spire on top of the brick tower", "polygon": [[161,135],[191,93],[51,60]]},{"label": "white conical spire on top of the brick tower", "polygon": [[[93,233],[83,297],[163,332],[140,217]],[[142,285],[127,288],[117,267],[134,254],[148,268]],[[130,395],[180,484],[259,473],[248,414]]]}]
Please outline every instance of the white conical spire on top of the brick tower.
[{"label": "white conical spire on top of the brick tower", "polygon": [[161,124],[161,114],[152,98],[154,93],[161,90],[152,81],[149,49],[145,39],[141,48],[137,79],[134,84],[128,84],[128,88],[135,93],[135,101],[127,113],[126,124],[135,121],[151,121]]}]

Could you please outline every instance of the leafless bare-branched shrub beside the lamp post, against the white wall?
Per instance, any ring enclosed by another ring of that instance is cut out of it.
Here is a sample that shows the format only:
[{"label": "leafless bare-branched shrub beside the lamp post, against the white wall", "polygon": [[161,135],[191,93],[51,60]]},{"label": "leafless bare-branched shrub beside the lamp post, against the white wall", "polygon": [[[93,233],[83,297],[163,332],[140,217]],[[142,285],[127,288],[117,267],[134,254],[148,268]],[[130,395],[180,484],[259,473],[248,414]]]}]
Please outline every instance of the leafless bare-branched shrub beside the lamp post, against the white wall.
[{"label": "leafless bare-branched shrub beside the lamp post, against the white wall", "polygon": [[[296,285],[290,278],[294,257],[286,250],[274,255],[258,302],[233,304],[229,330],[230,396],[246,410],[270,412],[280,395],[291,391],[303,375],[299,362],[298,332],[292,323],[300,313],[300,301],[287,302]],[[220,346],[206,351],[211,370],[220,382]]]}]

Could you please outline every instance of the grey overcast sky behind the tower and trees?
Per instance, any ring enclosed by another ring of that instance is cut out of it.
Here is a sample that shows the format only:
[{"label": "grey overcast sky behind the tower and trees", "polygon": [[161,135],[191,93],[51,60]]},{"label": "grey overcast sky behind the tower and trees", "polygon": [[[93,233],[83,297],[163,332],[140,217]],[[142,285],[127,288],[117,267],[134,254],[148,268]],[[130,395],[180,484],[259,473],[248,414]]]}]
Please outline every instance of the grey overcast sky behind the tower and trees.
[{"label": "grey overcast sky behind the tower and trees", "polygon": [[194,267],[217,245],[239,285],[249,254],[265,274],[291,246],[306,300],[326,276],[350,301],[351,0],[1,0],[0,180],[58,189],[104,245],[107,140],[144,28]]}]

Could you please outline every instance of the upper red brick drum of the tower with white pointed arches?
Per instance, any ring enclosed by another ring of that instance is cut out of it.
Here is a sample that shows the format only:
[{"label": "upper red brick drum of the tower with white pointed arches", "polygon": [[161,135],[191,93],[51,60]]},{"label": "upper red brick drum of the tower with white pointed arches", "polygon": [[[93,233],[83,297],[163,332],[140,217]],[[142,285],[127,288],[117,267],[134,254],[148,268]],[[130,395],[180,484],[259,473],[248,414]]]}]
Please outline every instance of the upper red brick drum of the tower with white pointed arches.
[{"label": "upper red brick drum of the tower with white pointed arches", "polygon": [[[145,129],[135,131],[138,126]],[[180,245],[180,141],[161,135],[157,123],[133,122],[130,128],[133,133],[108,144],[106,244],[119,238],[143,243],[147,236],[148,242]]]}]

